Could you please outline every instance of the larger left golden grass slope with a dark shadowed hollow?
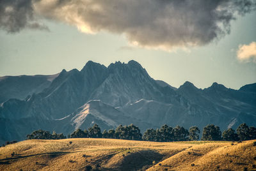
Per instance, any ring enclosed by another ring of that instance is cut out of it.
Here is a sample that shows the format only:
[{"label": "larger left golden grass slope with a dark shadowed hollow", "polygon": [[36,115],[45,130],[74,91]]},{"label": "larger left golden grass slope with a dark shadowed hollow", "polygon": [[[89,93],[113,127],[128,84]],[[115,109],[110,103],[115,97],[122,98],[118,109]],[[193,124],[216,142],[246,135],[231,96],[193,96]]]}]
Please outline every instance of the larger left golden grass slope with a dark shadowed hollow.
[{"label": "larger left golden grass slope with a dark shadowed hollow", "polygon": [[26,140],[0,148],[0,170],[84,170],[88,165],[100,170],[138,170],[191,145],[195,144],[100,138]]}]

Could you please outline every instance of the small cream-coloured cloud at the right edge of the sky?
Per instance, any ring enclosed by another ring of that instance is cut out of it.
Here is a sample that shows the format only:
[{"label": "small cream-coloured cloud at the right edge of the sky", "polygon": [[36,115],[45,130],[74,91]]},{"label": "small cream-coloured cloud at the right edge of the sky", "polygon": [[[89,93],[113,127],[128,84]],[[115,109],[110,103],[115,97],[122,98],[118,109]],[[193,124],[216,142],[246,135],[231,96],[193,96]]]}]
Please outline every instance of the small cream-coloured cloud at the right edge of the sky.
[{"label": "small cream-coloured cloud at the right edge of the sky", "polygon": [[239,59],[239,61],[253,61],[256,63],[256,42],[253,41],[249,45],[239,45],[237,59]]}]

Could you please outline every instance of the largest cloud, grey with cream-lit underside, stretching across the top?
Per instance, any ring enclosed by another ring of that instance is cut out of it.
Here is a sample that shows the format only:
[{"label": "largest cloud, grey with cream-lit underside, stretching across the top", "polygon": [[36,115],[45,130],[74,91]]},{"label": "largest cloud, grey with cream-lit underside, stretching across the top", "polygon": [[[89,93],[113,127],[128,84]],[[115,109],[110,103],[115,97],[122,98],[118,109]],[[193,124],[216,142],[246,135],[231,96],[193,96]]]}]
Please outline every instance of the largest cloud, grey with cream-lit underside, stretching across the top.
[{"label": "largest cloud, grey with cream-lit underside, stretching across the top", "polygon": [[201,46],[218,40],[230,33],[230,21],[234,20],[236,15],[244,15],[256,9],[255,0],[30,0],[28,2],[30,2],[29,10],[26,12],[28,16],[32,13],[65,22],[76,26],[83,33],[95,34],[99,31],[107,31],[123,34],[132,45],[164,50]]}]

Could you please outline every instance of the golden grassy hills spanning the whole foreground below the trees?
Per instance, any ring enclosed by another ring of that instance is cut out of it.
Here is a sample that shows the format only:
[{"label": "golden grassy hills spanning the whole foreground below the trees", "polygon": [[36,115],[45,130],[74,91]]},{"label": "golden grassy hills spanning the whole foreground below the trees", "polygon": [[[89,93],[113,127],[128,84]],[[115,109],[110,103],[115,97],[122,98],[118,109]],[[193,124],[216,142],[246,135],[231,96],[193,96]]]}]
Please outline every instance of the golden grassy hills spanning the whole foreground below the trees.
[{"label": "golden grassy hills spanning the whole foreground below the trees", "polygon": [[0,147],[0,170],[256,170],[256,140],[26,140]]}]

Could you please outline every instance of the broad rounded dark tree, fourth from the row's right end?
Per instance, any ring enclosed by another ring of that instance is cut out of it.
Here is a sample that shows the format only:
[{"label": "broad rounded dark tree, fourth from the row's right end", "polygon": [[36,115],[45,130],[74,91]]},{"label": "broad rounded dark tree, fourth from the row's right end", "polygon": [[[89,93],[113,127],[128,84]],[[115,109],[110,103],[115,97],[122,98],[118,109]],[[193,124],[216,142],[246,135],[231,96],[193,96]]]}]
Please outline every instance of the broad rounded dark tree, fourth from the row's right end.
[{"label": "broad rounded dark tree, fourth from the row's right end", "polygon": [[220,127],[214,124],[205,126],[201,140],[221,140]]}]

